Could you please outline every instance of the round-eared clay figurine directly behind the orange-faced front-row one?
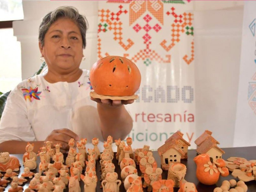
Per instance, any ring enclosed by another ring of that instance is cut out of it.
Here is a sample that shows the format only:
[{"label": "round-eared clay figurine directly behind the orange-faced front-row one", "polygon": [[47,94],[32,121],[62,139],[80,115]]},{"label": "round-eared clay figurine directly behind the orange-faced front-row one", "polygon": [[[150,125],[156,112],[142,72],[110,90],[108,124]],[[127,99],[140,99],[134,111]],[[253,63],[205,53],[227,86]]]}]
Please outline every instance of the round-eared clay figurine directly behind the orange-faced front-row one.
[{"label": "round-eared clay figurine directly behind the orange-faced front-row one", "polygon": [[163,170],[161,168],[148,167],[144,174],[144,183],[142,187],[148,187],[148,192],[152,191],[152,184],[155,181],[162,180],[162,172]]}]

